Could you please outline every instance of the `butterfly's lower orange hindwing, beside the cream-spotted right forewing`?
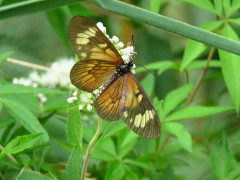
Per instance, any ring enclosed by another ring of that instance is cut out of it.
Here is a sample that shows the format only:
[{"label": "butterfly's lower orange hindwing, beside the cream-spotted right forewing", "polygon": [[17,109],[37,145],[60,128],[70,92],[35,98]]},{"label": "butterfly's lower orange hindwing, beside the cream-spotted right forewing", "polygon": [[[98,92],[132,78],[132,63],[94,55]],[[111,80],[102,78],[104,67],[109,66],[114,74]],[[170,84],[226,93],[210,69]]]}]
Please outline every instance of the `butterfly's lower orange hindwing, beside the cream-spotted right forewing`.
[{"label": "butterfly's lower orange hindwing, beside the cream-spotted right forewing", "polygon": [[123,77],[111,81],[100,96],[94,101],[94,106],[98,115],[108,121],[120,119],[119,108],[120,99],[123,93]]}]

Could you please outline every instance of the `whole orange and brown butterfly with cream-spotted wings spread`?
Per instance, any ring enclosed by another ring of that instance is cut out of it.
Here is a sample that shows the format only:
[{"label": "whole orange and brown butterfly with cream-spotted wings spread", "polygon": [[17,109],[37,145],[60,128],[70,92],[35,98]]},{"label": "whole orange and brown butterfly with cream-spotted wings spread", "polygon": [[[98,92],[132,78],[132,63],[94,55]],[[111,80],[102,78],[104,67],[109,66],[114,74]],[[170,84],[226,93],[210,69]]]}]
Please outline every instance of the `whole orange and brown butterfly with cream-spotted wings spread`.
[{"label": "whole orange and brown butterfly with cream-spotted wings spread", "polygon": [[94,101],[98,115],[107,121],[121,118],[142,137],[159,137],[157,112],[131,72],[133,61],[124,62],[106,35],[82,16],[71,19],[69,38],[80,59],[70,72],[72,84],[88,92],[103,86]]}]

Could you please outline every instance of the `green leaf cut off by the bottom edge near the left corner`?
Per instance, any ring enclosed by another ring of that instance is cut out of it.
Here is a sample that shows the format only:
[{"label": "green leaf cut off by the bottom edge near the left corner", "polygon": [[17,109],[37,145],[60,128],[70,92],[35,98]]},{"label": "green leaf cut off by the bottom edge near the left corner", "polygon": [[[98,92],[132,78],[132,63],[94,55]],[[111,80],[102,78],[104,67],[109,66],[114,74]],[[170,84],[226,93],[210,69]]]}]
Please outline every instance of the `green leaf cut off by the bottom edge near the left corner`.
[{"label": "green leaf cut off by the bottom edge near the left corner", "polygon": [[53,180],[52,178],[48,176],[43,176],[39,172],[33,172],[33,171],[21,171],[19,175],[15,178],[15,180]]}]

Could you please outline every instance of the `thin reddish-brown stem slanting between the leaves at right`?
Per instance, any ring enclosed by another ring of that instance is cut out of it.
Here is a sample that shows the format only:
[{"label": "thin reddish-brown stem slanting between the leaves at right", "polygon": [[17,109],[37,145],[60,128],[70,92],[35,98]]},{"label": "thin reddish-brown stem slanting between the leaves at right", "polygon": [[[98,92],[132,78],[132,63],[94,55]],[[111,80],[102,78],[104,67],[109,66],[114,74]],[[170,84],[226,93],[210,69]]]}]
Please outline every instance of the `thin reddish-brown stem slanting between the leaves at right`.
[{"label": "thin reddish-brown stem slanting between the leaves at right", "polygon": [[195,84],[195,86],[193,88],[193,91],[188,96],[187,101],[186,101],[186,103],[184,105],[185,107],[188,106],[193,101],[193,98],[195,97],[195,95],[196,95],[200,85],[202,84],[203,78],[204,78],[205,74],[207,73],[208,66],[209,66],[209,63],[210,63],[210,61],[211,61],[211,59],[213,57],[214,51],[215,51],[215,48],[212,47],[210,49],[209,54],[208,54],[206,65],[203,68],[200,76],[198,77],[198,80],[197,80],[197,82],[196,82],[196,84]]}]

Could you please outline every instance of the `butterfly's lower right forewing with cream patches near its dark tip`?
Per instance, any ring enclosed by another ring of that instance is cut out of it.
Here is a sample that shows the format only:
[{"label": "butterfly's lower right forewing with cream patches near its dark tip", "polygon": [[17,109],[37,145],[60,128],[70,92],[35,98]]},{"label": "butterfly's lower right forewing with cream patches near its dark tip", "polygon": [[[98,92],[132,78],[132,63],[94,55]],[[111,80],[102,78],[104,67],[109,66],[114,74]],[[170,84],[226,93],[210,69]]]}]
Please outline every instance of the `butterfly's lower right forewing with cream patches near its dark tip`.
[{"label": "butterfly's lower right forewing with cream patches near its dark tip", "polygon": [[160,120],[146,92],[132,73],[123,76],[120,116],[138,135],[158,138]]}]

